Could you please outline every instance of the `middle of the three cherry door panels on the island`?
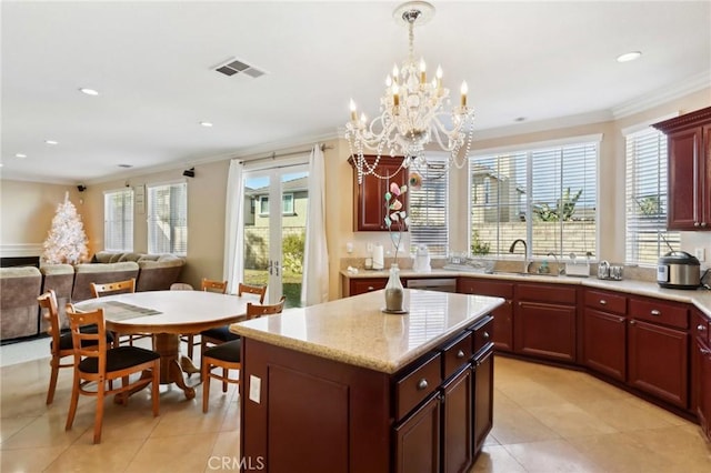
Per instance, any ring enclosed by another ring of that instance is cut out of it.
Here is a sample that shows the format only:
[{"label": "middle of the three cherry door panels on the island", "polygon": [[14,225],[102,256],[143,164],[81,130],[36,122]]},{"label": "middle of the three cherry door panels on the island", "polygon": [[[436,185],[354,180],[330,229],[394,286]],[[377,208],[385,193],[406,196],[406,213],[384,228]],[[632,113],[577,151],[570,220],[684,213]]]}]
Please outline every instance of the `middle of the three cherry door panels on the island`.
[{"label": "middle of the three cherry door panels on the island", "polygon": [[467,366],[457,378],[442,386],[442,471],[463,472],[472,456],[472,382]]}]

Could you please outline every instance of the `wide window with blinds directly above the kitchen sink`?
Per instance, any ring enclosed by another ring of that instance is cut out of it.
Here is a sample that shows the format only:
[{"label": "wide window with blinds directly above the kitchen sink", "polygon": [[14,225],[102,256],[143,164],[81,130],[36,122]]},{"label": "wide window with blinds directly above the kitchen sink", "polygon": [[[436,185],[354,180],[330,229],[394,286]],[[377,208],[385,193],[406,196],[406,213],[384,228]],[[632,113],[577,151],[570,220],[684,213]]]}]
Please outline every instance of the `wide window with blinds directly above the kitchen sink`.
[{"label": "wide window with blinds directly above the kitchen sink", "polygon": [[508,254],[517,239],[531,256],[594,254],[598,155],[581,142],[471,158],[471,254]]}]

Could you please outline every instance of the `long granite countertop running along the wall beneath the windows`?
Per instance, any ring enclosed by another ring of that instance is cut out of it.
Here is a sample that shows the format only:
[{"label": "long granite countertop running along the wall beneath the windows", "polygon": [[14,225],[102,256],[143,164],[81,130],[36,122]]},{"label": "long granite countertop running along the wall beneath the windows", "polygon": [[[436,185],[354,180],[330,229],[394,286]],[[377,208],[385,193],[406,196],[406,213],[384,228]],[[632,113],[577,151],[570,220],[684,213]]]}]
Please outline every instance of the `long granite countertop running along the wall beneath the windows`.
[{"label": "long granite countertop running along the wall beneath the windows", "polygon": [[[341,275],[348,279],[388,278],[388,271],[359,271],[350,273],[341,271]],[[467,271],[435,270],[431,272],[415,272],[412,270],[400,271],[400,278],[482,278],[491,280],[507,280],[511,282],[545,282],[550,284],[578,284],[585,288],[620,291],[628,294],[647,295],[650,298],[665,299],[668,301],[685,302],[695,305],[707,316],[711,318],[711,291],[705,289],[682,290],[661,288],[657,282],[624,279],[622,281],[599,280],[594,276],[551,276],[545,274],[514,274],[514,273],[479,273]]]}]

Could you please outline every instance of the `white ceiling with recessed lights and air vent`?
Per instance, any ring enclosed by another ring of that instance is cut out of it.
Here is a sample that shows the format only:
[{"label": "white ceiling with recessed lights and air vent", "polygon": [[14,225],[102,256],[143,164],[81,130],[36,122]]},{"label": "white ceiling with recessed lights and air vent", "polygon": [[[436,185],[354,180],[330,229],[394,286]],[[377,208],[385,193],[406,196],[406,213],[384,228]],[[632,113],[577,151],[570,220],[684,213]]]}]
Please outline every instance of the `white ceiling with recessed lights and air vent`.
[{"label": "white ceiling with recessed lights and air vent", "polygon": [[[407,56],[399,3],[2,1],[2,179],[86,183],[333,138],[351,97],[375,114]],[[433,3],[415,54],[453,93],[468,81],[480,137],[711,84],[709,1]],[[232,57],[268,73],[212,71]]]}]

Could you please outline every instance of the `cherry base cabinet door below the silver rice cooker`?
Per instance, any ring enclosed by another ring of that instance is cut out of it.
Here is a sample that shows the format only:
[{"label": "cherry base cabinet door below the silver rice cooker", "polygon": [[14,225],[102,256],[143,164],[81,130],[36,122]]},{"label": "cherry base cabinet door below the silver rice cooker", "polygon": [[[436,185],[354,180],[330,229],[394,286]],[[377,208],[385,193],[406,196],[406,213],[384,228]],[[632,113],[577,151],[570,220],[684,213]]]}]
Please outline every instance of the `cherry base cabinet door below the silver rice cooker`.
[{"label": "cherry base cabinet door below the silver rice cooker", "polygon": [[629,324],[629,383],[687,409],[689,335],[642,321]]}]

